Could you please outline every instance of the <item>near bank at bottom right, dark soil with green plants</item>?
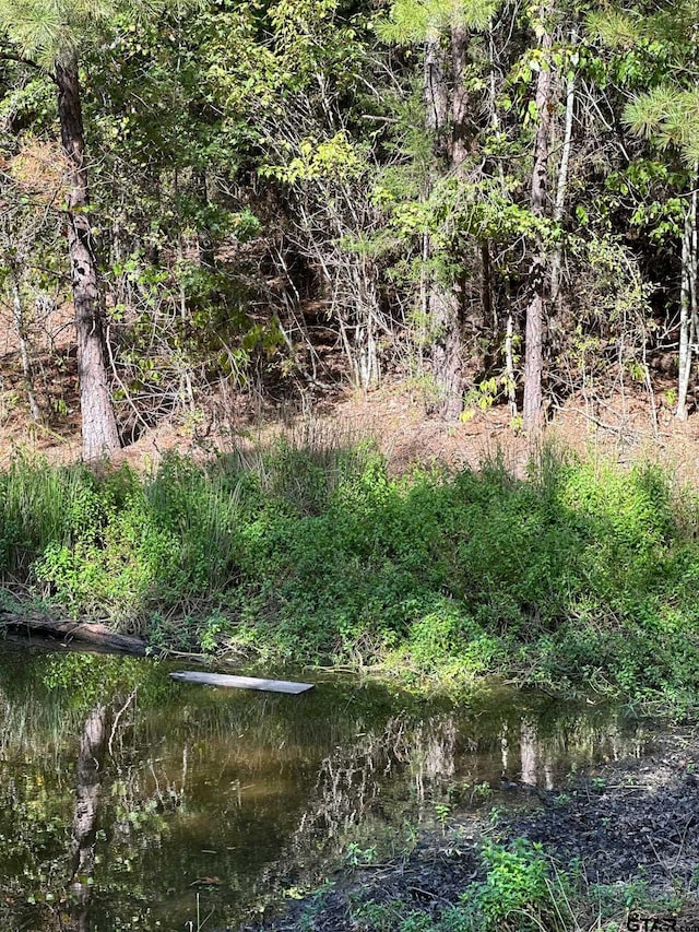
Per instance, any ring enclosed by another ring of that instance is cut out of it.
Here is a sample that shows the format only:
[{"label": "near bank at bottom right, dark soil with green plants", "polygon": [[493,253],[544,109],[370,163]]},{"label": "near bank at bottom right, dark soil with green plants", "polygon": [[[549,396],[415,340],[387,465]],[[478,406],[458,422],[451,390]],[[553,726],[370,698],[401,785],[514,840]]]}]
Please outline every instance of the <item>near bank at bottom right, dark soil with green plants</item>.
[{"label": "near bank at bottom right, dark soil with green plants", "polygon": [[699,744],[673,734],[659,751],[555,790],[520,787],[510,810],[484,794],[404,850],[355,847],[318,889],[242,932],[692,932],[698,838],[682,828]]}]

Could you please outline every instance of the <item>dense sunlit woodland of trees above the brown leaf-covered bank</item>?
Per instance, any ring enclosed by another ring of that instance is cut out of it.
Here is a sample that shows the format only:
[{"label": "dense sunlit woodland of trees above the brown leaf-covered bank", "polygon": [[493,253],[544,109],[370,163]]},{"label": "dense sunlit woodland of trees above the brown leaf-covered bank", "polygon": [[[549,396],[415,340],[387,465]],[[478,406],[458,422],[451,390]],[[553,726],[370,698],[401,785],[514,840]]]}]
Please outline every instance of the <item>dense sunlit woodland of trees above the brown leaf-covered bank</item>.
[{"label": "dense sunlit woodland of trees above the brown leaf-covered bank", "polygon": [[698,31],[689,0],[2,0],[16,403],[50,422],[76,357],[87,459],[388,376],[531,432],[660,366],[685,418]]}]

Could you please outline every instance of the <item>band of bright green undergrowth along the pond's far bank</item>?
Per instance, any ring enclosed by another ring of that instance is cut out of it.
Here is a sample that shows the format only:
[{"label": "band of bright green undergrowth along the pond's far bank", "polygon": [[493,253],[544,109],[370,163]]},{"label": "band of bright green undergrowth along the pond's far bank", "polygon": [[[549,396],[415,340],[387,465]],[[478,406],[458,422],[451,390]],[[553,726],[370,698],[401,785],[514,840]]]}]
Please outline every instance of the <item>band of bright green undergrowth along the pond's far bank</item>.
[{"label": "band of bright green undergrowth along the pond's far bank", "polygon": [[394,477],[371,445],[279,441],[145,479],[17,458],[0,502],[5,590],[155,645],[679,710],[699,689],[699,506],[659,465]]}]

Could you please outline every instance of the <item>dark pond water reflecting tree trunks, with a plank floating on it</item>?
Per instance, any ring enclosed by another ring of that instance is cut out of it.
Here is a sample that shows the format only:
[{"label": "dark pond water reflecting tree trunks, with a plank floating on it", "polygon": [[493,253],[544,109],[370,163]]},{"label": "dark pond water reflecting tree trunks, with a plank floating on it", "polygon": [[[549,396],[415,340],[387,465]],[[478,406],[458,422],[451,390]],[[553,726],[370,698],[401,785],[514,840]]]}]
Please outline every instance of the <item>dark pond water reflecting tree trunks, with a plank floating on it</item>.
[{"label": "dark pond water reflecting tree trunks, with a plank floating on it", "polygon": [[317,687],[286,696],[174,669],[0,641],[2,932],[236,929],[418,824],[652,740],[614,708],[506,689],[426,701],[305,673]]}]

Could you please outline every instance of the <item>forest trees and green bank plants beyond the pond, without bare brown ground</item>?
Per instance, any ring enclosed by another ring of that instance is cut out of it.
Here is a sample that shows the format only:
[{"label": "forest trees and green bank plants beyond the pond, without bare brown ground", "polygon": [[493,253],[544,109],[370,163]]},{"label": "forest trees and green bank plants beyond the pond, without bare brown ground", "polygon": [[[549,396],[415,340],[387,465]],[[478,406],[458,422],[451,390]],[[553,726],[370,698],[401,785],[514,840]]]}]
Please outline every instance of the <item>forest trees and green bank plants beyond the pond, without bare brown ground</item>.
[{"label": "forest trees and green bank plants beyond the pond, without bare brown ground", "polygon": [[[696,12],[0,2],[0,610],[689,715],[691,457],[544,432],[694,414]],[[499,412],[529,463],[234,436],[392,385],[445,437]],[[163,423],[228,444],[115,459]],[[22,446],[81,426],[82,463]]]}]

